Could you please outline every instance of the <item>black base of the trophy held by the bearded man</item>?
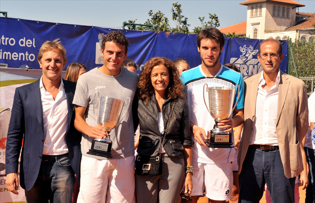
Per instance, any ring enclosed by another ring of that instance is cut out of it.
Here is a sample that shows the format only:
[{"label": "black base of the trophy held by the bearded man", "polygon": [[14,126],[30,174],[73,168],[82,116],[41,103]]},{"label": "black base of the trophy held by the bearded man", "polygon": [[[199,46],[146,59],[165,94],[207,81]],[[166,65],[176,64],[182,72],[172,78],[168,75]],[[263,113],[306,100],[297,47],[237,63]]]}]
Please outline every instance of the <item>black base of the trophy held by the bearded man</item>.
[{"label": "black base of the trophy held by the bearded man", "polygon": [[211,148],[233,148],[232,134],[229,132],[215,132],[208,130],[208,147]]}]

